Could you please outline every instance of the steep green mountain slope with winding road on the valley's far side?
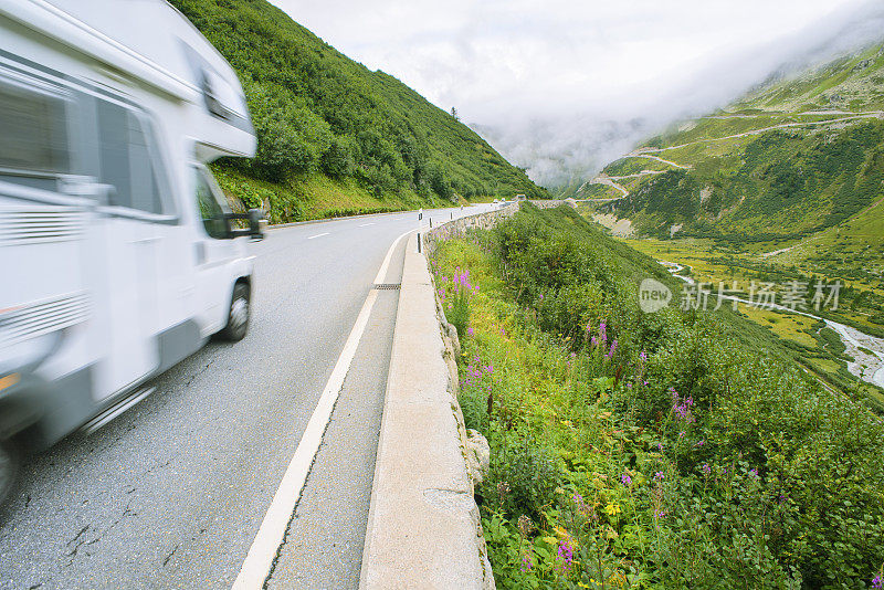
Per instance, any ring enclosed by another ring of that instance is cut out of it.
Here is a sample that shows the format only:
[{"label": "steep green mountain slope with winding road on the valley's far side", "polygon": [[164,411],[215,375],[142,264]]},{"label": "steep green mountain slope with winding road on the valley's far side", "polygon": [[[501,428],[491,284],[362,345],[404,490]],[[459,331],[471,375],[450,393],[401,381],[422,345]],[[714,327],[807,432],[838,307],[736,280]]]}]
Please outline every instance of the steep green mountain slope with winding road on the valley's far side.
[{"label": "steep green mountain slope with winding road on the valley's far side", "polygon": [[660,236],[681,226],[760,242],[834,228],[883,193],[882,73],[876,46],[771,83],[651,139],[596,181],[623,186],[613,209]]}]

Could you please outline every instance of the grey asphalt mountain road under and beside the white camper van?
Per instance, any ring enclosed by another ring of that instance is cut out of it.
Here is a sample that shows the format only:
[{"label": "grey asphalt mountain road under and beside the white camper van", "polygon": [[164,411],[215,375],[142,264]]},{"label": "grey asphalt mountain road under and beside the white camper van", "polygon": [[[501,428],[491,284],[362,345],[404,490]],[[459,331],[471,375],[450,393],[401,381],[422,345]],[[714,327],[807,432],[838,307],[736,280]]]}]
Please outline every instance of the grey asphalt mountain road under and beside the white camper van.
[{"label": "grey asphalt mountain road under and beside the white camper van", "polygon": [[[375,274],[415,228],[414,212],[370,215],[252,244],[244,340],[210,343],[129,412],[23,466],[0,508],[0,588],[230,587]],[[402,247],[387,282],[399,281]],[[372,309],[269,586],[358,581],[397,302],[386,292]]]}]

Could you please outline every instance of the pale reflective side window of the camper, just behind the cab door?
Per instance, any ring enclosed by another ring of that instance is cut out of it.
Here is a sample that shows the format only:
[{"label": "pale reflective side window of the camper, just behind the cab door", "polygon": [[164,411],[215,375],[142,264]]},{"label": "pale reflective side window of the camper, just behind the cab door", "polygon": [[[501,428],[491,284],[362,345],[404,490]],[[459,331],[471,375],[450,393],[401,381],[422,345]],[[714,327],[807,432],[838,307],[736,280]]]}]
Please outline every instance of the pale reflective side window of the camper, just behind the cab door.
[{"label": "pale reflective side window of the camper, just behind the cab door", "polygon": [[139,117],[107,101],[98,101],[97,114],[101,182],[116,188],[109,204],[169,214],[157,182],[157,167],[150,158],[148,134]]}]

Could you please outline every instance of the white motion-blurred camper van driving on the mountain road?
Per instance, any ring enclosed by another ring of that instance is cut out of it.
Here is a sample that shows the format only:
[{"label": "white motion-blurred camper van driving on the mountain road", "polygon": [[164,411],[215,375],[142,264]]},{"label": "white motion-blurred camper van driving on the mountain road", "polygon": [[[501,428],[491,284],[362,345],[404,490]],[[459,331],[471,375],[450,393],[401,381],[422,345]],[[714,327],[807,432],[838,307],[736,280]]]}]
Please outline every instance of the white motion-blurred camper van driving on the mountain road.
[{"label": "white motion-blurred camper van driving on the mountain road", "polygon": [[[253,156],[242,87],[162,0],[0,0],[0,499],[51,445],[245,335],[260,211],[206,164]],[[248,226],[248,229],[236,229]]]}]

